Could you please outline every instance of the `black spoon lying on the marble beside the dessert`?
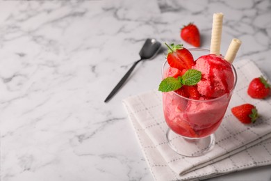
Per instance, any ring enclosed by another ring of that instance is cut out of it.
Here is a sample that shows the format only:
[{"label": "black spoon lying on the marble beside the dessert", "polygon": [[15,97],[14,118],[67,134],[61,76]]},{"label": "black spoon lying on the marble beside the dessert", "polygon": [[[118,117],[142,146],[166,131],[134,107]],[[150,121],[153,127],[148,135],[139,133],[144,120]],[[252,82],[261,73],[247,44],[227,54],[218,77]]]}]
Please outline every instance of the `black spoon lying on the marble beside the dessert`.
[{"label": "black spoon lying on the marble beside the dessert", "polygon": [[117,91],[124,84],[126,79],[128,79],[129,75],[131,74],[131,72],[133,72],[133,69],[136,68],[136,65],[138,65],[138,63],[140,63],[140,61],[153,58],[159,52],[160,48],[161,48],[160,42],[158,42],[155,39],[148,38],[145,41],[145,44],[143,45],[142,49],[139,52],[140,60],[133,63],[133,66],[128,70],[128,72],[126,72],[126,74],[124,74],[124,77],[122,77],[122,79],[119,81],[117,86],[115,86],[115,88],[113,88],[113,91],[111,91],[111,93],[108,95],[108,97],[106,97],[106,100],[104,100],[104,102],[108,102],[108,100],[110,100],[110,98],[112,98],[113,95],[115,95],[115,93],[117,93]]}]

